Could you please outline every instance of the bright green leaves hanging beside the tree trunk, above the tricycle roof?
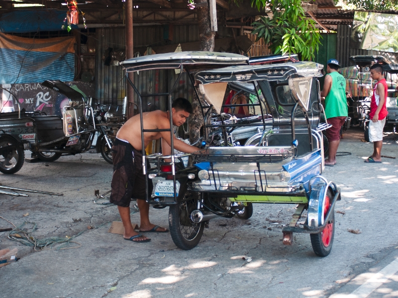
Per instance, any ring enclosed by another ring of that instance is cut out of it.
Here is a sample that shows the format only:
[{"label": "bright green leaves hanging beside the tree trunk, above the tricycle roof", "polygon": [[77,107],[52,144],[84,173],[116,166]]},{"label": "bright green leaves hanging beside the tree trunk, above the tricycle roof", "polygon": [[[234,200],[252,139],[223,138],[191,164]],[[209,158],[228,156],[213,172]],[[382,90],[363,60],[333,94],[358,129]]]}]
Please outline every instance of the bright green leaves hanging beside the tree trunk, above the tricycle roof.
[{"label": "bright green leaves hanging beside the tree trunk, above the tricycle roof", "polygon": [[267,9],[272,17],[261,16],[254,22],[252,34],[271,45],[273,53],[301,54],[302,60],[314,58],[320,44],[315,21],[305,16],[301,0],[251,0],[259,11]]}]

